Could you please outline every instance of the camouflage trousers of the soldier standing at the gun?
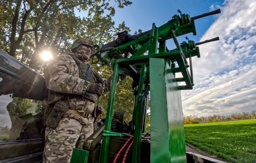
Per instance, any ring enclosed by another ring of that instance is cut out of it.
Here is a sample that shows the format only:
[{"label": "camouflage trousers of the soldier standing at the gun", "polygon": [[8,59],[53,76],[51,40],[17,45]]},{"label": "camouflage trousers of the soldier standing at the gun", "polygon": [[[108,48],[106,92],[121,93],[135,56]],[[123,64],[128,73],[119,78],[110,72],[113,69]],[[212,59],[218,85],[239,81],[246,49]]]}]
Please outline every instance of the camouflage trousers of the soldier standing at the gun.
[{"label": "camouflage trousers of the soldier standing at the gun", "polygon": [[70,116],[62,117],[56,128],[46,127],[43,163],[69,163],[73,148],[82,148],[83,142],[93,133],[93,118],[84,118],[85,125]]}]

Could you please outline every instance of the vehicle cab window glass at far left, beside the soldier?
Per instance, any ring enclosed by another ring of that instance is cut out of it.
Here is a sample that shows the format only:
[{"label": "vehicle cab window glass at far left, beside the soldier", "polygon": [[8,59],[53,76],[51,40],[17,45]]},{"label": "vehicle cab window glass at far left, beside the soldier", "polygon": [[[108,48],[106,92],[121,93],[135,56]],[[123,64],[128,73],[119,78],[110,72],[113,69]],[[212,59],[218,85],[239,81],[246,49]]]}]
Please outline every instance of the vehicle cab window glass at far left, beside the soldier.
[{"label": "vehicle cab window glass at far left, beside the soldier", "polygon": [[[1,78],[0,78],[1,80]],[[0,141],[44,137],[41,125],[41,101],[0,96]]]}]

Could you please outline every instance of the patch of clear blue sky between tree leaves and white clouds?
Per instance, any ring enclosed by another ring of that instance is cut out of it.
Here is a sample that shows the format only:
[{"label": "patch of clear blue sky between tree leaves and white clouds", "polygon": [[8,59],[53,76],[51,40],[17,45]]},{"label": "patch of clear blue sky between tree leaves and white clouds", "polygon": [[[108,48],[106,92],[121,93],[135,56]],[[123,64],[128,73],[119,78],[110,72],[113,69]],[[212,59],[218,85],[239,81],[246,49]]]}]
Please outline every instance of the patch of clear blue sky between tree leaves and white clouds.
[{"label": "patch of clear blue sky between tree leaves and white clouds", "polygon": [[[172,19],[173,15],[179,15],[177,12],[178,9],[182,13],[189,14],[192,17],[212,11],[210,6],[221,3],[223,3],[223,1],[196,0],[192,2],[188,0],[160,0],[159,2],[156,2],[152,0],[137,0],[124,9],[116,9],[116,14],[113,19],[116,24],[121,23],[124,20],[127,27],[130,28],[131,33],[134,33],[134,31],[138,31],[138,29],[142,29],[142,31],[151,29],[153,22],[156,23],[157,27],[163,25],[168,20]],[[195,41],[199,41],[200,37],[202,37],[204,32],[210,27],[215,18],[216,16],[208,16],[197,19],[197,35],[193,36],[192,34],[188,34],[186,36],[193,38]],[[183,37],[181,39],[185,40],[185,36],[181,37]]]}]

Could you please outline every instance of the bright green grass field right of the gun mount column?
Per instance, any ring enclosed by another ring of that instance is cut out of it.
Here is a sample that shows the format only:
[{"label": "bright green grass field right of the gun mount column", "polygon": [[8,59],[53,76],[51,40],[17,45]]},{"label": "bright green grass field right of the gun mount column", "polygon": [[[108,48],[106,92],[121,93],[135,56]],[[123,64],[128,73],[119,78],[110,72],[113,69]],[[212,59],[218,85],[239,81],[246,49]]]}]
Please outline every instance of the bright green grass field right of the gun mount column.
[{"label": "bright green grass field right of the gun mount column", "polygon": [[228,163],[256,163],[256,119],[184,125],[186,142]]}]

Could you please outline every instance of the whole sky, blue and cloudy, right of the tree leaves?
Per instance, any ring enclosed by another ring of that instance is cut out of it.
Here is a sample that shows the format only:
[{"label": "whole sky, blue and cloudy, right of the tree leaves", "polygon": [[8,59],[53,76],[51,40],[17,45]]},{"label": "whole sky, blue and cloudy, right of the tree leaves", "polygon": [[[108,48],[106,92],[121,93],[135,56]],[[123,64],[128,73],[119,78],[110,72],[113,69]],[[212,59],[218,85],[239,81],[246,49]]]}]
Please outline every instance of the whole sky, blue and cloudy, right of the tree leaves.
[{"label": "whole sky, blue and cloudy, right of the tree leaves", "polygon": [[[183,115],[209,116],[256,110],[256,1],[252,0],[136,0],[116,9],[114,21],[123,20],[131,34],[159,27],[174,14],[191,17],[221,9],[221,14],[195,20],[197,35],[185,37],[201,42],[219,36],[220,40],[199,45],[201,58],[192,58],[194,86],[182,90]],[[173,40],[167,41],[169,49]]]}]

